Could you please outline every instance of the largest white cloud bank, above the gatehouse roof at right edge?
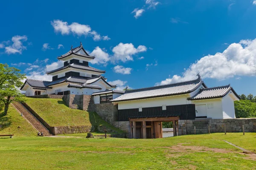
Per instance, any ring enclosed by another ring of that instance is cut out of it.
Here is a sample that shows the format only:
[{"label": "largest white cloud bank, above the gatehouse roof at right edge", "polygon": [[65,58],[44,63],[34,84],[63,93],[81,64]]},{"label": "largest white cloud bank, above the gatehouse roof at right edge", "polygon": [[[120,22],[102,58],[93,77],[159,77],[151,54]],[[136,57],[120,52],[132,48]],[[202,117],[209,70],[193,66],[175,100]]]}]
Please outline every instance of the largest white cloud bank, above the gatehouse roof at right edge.
[{"label": "largest white cloud bank, above the gatehouse roof at right edge", "polygon": [[241,40],[239,43],[230,44],[222,53],[209,54],[197,60],[185,69],[181,76],[169,76],[156,85],[195,79],[198,73],[201,74],[202,78],[219,80],[235,76],[255,76],[256,39]]}]

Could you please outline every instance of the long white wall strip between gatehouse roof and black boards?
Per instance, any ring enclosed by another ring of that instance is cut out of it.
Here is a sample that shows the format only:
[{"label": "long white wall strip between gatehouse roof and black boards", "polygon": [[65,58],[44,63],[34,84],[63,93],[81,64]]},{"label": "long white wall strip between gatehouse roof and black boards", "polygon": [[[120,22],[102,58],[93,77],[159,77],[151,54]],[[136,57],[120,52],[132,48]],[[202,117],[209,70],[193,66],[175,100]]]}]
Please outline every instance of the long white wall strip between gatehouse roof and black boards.
[{"label": "long white wall strip between gatehouse roof and black boards", "polygon": [[118,109],[132,109],[132,108],[151,108],[157,106],[170,106],[170,105],[186,105],[188,95],[175,95],[166,97],[157,97],[150,99],[131,100],[118,103]]}]

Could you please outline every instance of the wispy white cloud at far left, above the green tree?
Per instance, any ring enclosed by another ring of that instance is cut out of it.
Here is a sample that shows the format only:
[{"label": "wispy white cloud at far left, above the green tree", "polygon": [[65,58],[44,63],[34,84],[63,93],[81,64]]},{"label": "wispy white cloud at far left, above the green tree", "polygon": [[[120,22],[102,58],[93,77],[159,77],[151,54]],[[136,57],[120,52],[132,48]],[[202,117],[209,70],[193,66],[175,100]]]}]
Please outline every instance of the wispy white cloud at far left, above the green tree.
[{"label": "wispy white cloud at far left, above the green tree", "polygon": [[13,44],[5,47],[5,52],[7,54],[15,54],[15,53],[22,54],[22,51],[26,50],[26,46],[23,45],[23,42],[25,42],[26,40],[27,40],[26,35],[23,35],[23,36],[16,35],[12,37]]}]

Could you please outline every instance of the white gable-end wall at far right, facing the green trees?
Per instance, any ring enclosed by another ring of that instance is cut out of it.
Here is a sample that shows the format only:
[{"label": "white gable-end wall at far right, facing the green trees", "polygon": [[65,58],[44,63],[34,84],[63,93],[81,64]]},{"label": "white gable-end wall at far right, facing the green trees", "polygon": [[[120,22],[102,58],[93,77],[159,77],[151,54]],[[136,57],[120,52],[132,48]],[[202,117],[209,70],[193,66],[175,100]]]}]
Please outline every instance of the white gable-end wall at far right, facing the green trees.
[{"label": "white gable-end wall at far right, facing the green trees", "polygon": [[232,94],[227,94],[221,100],[223,119],[236,118],[234,100],[232,99]]}]

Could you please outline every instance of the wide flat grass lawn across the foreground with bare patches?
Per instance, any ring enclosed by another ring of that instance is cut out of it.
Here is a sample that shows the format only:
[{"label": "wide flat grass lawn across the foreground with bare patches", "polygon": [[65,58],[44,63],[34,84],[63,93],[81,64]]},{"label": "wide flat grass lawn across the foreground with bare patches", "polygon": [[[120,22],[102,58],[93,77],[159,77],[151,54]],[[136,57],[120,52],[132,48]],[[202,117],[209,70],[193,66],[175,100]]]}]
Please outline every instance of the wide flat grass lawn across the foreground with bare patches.
[{"label": "wide flat grass lawn across the foreground with bare patches", "polygon": [[250,141],[239,146],[256,148],[256,133],[241,134],[164,139],[86,139],[84,134],[80,138],[0,139],[0,158],[4,158],[0,159],[4,165],[0,169],[256,169],[256,157],[223,142]]}]

